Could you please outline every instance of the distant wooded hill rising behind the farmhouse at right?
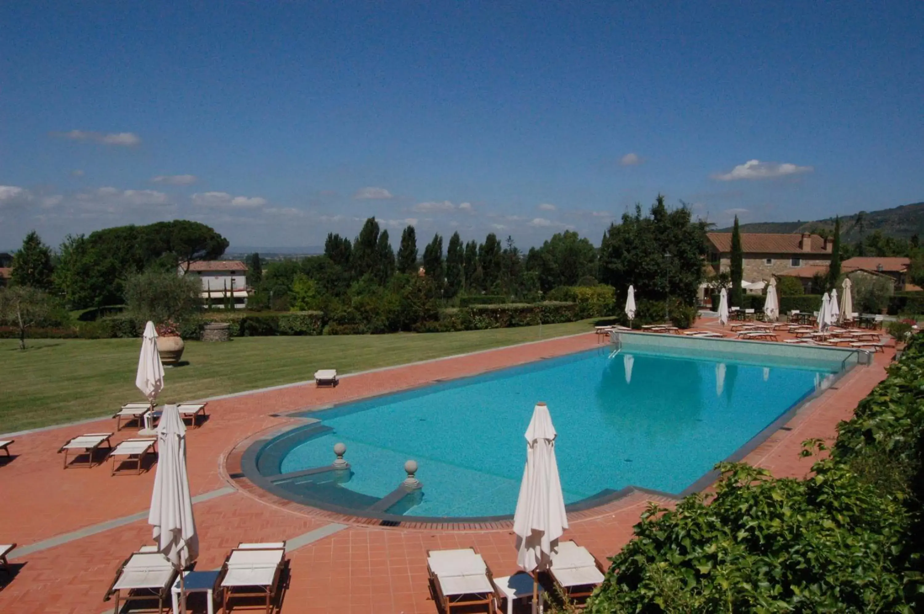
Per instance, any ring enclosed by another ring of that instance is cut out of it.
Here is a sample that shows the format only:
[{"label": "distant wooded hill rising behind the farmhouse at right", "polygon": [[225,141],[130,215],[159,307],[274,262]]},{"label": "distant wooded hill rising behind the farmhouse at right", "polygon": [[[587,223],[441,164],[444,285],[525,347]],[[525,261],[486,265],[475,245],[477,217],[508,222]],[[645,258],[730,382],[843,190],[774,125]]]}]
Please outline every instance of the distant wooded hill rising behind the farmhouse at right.
[{"label": "distant wooded hill rising behind the farmhouse at right", "polygon": [[[924,236],[924,202],[915,202],[881,211],[865,211],[862,229],[857,223],[858,215],[859,213],[855,213],[841,217],[841,237],[845,241],[856,241],[861,230],[864,235],[879,230],[883,235],[903,239],[910,238],[911,235]],[[834,218],[814,222],[743,223],[740,228],[742,233],[808,233],[819,229],[833,230]],[[716,232],[730,233],[732,228],[722,228]]]}]

